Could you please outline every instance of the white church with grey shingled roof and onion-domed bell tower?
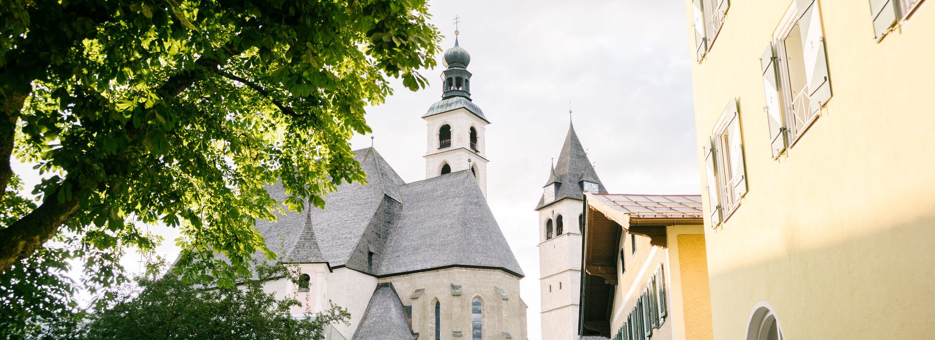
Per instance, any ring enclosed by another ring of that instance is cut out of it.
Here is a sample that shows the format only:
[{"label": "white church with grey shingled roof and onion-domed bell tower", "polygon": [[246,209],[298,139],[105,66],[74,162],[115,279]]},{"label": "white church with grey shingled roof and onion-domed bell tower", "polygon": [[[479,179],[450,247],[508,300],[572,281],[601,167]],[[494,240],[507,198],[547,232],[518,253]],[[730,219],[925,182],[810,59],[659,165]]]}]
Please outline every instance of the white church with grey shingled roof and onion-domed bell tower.
[{"label": "white church with grey shingled roof and onion-domed bell tower", "polygon": [[267,292],[295,296],[295,315],[329,302],[350,312],[326,339],[526,339],[524,274],[487,204],[490,122],[471,100],[469,62],[455,32],[441,100],[422,116],[425,180],[405,183],[376,149],[356,150],[367,184],[339,185],[323,210],[257,223],[301,271],[298,284],[279,279]]}]

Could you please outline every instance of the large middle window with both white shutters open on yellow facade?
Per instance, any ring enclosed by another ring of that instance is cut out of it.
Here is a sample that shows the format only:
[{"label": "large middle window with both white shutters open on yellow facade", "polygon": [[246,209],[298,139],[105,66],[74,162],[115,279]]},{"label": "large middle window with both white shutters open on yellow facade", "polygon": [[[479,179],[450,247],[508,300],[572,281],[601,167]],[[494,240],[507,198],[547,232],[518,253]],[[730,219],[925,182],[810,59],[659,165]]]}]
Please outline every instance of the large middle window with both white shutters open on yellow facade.
[{"label": "large middle window with both white shutters open on yellow facade", "polygon": [[798,142],[831,99],[825,37],[815,0],[796,0],[760,58],[772,156]]}]

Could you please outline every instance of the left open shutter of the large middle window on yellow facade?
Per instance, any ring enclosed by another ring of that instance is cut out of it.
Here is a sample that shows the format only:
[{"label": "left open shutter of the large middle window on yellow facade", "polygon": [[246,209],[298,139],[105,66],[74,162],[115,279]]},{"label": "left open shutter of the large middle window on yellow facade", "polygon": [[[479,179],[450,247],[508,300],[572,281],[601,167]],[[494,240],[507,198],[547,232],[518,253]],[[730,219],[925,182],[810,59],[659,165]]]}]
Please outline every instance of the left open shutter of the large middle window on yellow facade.
[{"label": "left open shutter of the large middle window on yellow facade", "polygon": [[763,92],[766,94],[767,122],[770,124],[770,145],[772,156],[775,158],[785,150],[785,127],[783,126],[783,112],[779,107],[779,74],[776,73],[776,54],[772,43],[763,51],[760,57],[760,70],[763,72]]}]

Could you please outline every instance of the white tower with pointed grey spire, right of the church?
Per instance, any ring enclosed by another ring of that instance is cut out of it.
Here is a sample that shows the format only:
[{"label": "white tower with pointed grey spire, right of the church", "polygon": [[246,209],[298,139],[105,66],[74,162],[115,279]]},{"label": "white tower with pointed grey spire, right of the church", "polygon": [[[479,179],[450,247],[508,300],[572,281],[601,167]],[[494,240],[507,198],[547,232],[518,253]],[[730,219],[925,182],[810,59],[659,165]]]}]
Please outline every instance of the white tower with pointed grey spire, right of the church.
[{"label": "white tower with pointed grey spire, right of the church", "polygon": [[607,189],[584,153],[573,125],[543,186],[539,211],[539,292],[543,340],[578,340],[583,191]]}]

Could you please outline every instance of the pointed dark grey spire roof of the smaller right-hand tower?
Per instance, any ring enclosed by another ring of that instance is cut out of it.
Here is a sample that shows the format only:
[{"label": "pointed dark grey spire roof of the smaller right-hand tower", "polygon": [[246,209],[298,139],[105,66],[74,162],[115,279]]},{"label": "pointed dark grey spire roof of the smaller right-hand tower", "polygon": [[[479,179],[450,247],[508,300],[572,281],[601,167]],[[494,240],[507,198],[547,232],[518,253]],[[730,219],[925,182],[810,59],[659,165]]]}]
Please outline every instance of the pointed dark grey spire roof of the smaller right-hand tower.
[{"label": "pointed dark grey spire roof of the smaller right-hand tower", "polygon": [[562,152],[558,154],[558,161],[555,162],[547,181],[546,185],[558,182],[558,191],[555,192],[553,201],[546,202],[545,194],[539,197],[539,204],[536,205],[537,211],[562,198],[583,200],[582,181],[597,183],[598,193],[607,193],[607,188],[597,177],[597,171],[594,170],[587,154],[584,153],[584,147],[578,140],[578,134],[575,133],[575,127],[571,123],[568,123],[568,135],[565,137],[565,143],[562,143]]}]

